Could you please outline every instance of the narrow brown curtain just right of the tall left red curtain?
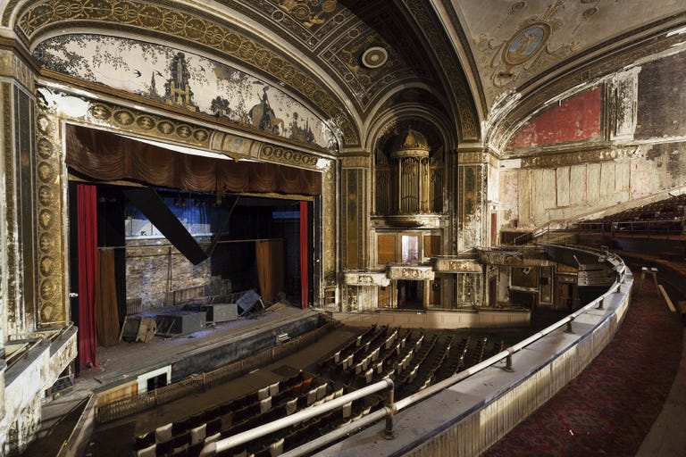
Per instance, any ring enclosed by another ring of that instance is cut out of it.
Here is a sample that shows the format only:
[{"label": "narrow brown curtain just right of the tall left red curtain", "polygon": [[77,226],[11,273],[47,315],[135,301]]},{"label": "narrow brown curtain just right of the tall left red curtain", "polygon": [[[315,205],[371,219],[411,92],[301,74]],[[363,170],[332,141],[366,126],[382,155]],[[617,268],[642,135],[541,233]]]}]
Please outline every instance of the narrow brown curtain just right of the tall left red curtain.
[{"label": "narrow brown curtain just right of the tall left red curtain", "polygon": [[117,286],[114,278],[114,251],[98,251],[96,287],[97,343],[109,347],[119,342]]}]

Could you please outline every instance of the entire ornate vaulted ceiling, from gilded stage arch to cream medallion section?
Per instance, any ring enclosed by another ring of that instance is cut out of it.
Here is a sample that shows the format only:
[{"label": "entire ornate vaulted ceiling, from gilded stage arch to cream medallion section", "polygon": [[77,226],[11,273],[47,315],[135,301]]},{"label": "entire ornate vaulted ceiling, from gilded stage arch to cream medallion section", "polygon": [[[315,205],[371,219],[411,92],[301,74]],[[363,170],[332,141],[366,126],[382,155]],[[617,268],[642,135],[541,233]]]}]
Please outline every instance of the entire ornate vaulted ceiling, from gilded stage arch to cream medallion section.
[{"label": "entire ornate vaulted ceiling, from gilded stage arch to cream medallion section", "polygon": [[192,50],[330,120],[342,151],[368,147],[398,116],[478,143],[496,121],[513,125],[551,96],[686,41],[683,0],[4,3],[3,35],[29,53],[74,31]]}]

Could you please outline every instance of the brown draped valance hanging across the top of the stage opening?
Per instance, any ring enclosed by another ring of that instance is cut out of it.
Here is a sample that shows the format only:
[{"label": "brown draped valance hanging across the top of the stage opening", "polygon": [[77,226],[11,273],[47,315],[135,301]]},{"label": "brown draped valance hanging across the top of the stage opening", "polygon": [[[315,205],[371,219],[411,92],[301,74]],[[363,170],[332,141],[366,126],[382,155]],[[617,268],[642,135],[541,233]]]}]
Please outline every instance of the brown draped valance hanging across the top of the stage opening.
[{"label": "brown draped valance hanging across the top of the stage opening", "polygon": [[262,162],[233,162],[174,153],[110,132],[67,125],[72,170],[91,179],[129,179],[197,192],[320,195],[317,171]]}]

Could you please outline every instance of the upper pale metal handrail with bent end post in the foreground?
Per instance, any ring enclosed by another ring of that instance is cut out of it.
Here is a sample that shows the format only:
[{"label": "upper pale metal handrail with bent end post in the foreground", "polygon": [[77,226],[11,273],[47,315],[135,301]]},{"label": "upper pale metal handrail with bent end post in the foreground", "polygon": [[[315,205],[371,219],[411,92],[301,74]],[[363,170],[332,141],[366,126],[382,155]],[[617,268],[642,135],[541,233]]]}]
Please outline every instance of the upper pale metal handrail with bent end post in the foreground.
[{"label": "upper pale metal handrail with bent end post in the foreground", "polygon": [[[389,394],[389,398],[387,400],[386,405],[388,407],[387,419],[392,424],[393,380],[390,378],[385,378],[381,381],[375,382],[370,386],[365,386],[361,389],[357,389],[355,392],[351,392],[347,395],[339,396],[338,398],[334,398],[328,402],[319,404],[317,406],[313,406],[312,408],[307,408],[303,411],[297,411],[296,413],[286,416],[285,418],[274,420],[273,422],[264,424],[260,427],[252,428],[245,432],[238,433],[238,435],[228,436],[219,441],[215,441],[214,443],[205,445],[202,451],[200,451],[200,457],[209,457],[216,453],[228,451],[231,448],[236,447],[238,445],[243,445],[257,438],[267,436],[283,428],[296,425],[297,423],[300,423],[304,420],[313,419],[314,417],[317,417],[325,412],[333,411],[346,405],[347,403],[351,403],[354,400],[364,398],[367,395],[375,394],[376,392],[380,392],[381,390],[387,390]],[[392,430],[392,425],[390,428]]]}]

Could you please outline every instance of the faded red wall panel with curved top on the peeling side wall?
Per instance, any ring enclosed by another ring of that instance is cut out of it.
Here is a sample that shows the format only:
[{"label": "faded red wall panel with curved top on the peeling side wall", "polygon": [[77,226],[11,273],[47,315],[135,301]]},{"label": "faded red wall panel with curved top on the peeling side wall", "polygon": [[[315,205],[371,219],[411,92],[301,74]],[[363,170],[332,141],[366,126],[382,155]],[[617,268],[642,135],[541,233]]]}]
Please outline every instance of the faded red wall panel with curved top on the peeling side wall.
[{"label": "faded red wall panel with curved top on the peeling side wall", "polygon": [[600,137],[600,87],[543,112],[510,140],[510,148]]}]

